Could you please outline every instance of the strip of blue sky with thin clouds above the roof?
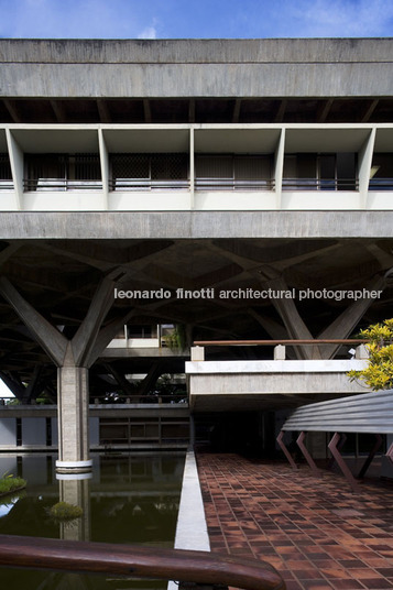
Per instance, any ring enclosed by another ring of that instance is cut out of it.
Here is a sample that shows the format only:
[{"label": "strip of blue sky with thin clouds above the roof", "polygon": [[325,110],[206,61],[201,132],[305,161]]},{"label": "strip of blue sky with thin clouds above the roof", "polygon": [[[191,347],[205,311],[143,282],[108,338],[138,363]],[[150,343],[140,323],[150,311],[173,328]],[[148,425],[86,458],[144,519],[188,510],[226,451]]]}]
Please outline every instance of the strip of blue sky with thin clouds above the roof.
[{"label": "strip of blue sky with thin clouds above the roof", "polygon": [[1,37],[393,36],[393,0],[0,0]]}]

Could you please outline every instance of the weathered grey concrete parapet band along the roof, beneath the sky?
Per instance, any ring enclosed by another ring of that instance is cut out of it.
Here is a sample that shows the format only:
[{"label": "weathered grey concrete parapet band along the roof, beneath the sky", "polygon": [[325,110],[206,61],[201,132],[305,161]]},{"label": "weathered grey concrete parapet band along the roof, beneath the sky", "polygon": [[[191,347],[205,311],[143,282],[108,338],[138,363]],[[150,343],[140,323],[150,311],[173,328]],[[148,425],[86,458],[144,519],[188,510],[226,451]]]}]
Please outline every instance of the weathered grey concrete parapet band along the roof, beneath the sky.
[{"label": "weathered grey concrete parapet band along the roof, beneath the sky", "polygon": [[0,42],[11,98],[385,97],[392,61],[389,39]]}]

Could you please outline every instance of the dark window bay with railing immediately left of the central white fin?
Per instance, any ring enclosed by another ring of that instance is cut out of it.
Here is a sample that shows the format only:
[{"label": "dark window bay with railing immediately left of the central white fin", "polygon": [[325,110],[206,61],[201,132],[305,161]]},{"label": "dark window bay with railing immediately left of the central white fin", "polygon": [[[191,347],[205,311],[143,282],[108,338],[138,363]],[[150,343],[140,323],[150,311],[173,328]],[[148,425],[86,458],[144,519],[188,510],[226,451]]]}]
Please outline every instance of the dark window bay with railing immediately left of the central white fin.
[{"label": "dark window bay with railing immediately left of the central white fin", "polygon": [[112,154],[111,190],[188,187],[188,154]]}]

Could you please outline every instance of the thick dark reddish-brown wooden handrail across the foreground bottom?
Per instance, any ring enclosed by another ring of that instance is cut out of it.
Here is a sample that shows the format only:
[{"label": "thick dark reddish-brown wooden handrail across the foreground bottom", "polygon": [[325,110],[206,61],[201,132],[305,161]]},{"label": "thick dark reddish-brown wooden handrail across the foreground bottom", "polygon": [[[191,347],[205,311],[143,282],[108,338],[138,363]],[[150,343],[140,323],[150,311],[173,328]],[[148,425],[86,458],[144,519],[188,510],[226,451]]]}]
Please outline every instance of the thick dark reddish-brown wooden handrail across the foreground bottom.
[{"label": "thick dark reddish-brown wooden handrail across the foreground bottom", "polygon": [[256,559],[209,551],[13,535],[0,535],[0,566],[179,580],[245,590],[286,588],[273,566]]}]

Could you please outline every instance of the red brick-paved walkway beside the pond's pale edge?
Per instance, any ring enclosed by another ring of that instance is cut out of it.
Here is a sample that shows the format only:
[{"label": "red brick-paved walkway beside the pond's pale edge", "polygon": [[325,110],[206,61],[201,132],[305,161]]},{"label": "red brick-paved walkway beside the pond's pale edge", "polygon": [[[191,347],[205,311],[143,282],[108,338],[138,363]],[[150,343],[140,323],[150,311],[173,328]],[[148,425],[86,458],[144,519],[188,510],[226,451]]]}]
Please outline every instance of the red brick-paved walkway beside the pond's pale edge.
[{"label": "red brick-paved walkway beside the pond's pale edge", "polygon": [[272,564],[287,590],[393,588],[393,485],[197,455],[211,550]]}]

